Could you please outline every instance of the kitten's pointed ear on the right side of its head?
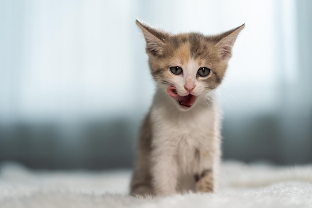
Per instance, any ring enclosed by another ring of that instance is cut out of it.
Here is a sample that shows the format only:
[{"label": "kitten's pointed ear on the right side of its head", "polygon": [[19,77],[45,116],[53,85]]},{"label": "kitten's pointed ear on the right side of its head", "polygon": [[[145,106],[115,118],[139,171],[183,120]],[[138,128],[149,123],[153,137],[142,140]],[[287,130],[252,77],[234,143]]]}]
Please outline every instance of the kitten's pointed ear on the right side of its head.
[{"label": "kitten's pointed ear on the right side of its head", "polygon": [[232,47],[239,32],[245,27],[245,24],[215,36],[217,44],[215,47],[221,50],[222,60],[227,62],[232,56]]}]

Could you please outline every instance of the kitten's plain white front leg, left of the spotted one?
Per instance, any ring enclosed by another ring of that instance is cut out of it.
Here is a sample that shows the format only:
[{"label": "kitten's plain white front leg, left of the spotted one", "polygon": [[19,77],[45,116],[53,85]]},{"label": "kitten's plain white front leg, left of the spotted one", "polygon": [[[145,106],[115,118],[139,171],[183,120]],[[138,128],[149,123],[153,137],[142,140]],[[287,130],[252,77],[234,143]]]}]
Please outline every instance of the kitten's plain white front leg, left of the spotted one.
[{"label": "kitten's plain white front leg, left of the spotted one", "polygon": [[177,176],[177,162],[173,151],[155,148],[152,152],[152,183],[155,194],[175,194]]}]

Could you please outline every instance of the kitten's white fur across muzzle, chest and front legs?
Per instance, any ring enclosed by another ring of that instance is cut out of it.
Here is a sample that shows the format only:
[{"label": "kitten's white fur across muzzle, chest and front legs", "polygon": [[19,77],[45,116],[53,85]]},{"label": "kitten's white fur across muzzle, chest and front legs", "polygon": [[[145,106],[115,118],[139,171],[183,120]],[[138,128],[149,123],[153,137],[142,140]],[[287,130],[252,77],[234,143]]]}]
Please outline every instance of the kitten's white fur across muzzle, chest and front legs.
[{"label": "kitten's white fur across muzzle, chest and front legs", "polygon": [[[191,60],[182,68],[183,76],[172,75],[180,96],[188,94],[183,87],[185,82],[196,85],[194,95],[202,93],[202,83],[196,80],[199,67]],[[156,194],[161,195],[176,193],[177,185],[181,184],[178,179],[183,175],[192,178],[194,174],[211,169],[216,178],[220,158],[220,113],[212,101],[212,93],[208,95],[207,92],[206,98],[198,97],[193,106],[183,111],[166,93],[166,87],[158,86],[151,109],[153,185]],[[200,160],[195,158],[196,151]],[[209,154],[203,157],[205,152]]]}]

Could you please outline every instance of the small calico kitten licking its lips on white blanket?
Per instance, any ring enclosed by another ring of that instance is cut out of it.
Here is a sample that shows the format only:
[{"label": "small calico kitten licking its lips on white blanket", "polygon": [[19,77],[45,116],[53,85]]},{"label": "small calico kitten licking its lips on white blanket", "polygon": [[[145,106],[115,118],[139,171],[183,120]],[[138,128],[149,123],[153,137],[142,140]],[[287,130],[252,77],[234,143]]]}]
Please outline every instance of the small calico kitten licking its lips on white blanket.
[{"label": "small calico kitten licking its lips on white blanket", "polygon": [[136,23],[146,40],[156,94],[141,128],[131,194],[213,192],[221,155],[214,91],[244,24],[205,36]]}]

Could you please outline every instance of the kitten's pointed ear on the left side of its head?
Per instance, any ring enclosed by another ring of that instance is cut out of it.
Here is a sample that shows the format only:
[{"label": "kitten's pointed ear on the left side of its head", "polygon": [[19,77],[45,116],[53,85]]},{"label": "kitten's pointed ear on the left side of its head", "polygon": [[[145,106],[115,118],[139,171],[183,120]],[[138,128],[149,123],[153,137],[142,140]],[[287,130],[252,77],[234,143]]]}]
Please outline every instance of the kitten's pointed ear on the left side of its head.
[{"label": "kitten's pointed ear on the left side of its head", "polygon": [[165,45],[165,40],[169,35],[142,21],[139,21],[138,19],[136,20],[136,23],[144,34],[147,52],[154,56],[161,55]]}]

